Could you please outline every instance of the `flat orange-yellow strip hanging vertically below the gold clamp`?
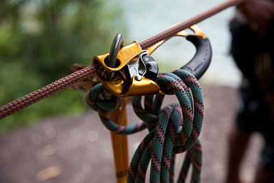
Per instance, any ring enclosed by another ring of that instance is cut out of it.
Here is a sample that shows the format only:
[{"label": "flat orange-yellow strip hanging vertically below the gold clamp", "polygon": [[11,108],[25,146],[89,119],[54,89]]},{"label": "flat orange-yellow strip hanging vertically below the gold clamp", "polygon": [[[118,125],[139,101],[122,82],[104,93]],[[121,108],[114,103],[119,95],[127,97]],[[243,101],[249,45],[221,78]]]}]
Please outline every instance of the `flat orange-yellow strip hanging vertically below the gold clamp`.
[{"label": "flat orange-yellow strip hanging vertically below the gold clamp", "polygon": [[[108,113],[110,119],[118,125],[127,125],[127,99],[124,99],[121,110]],[[127,136],[110,132],[116,168],[117,183],[127,182],[127,169],[129,167]]]}]

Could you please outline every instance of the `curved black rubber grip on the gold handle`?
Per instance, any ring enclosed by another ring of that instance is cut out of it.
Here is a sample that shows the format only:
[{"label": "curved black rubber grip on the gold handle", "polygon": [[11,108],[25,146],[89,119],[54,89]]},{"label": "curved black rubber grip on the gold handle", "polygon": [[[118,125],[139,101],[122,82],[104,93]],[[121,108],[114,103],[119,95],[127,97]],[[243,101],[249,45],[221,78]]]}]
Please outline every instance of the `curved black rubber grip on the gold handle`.
[{"label": "curved black rubber grip on the gold handle", "polygon": [[203,73],[206,72],[208,66],[210,66],[211,58],[212,58],[212,49],[210,45],[210,40],[208,38],[201,38],[200,36],[190,35],[186,37],[186,40],[195,45],[197,51],[195,56],[181,69],[185,69],[186,71],[190,71],[197,80],[201,78]]}]

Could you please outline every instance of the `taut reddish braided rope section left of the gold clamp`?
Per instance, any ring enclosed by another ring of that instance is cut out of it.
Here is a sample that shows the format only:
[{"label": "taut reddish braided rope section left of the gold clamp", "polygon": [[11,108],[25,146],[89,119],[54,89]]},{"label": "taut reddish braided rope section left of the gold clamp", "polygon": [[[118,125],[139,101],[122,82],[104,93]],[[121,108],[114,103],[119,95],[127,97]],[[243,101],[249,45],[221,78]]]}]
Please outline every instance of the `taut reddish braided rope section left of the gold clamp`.
[{"label": "taut reddish braided rope section left of the gold clamp", "polygon": [[87,66],[86,68],[77,71],[75,73],[71,73],[71,75],[67,75],[66,77],[57,80],[47,86],[35,90],[32,93],[29,93],[19,99],[16,99],[10,103],[5,104],[0,107],[0,120],[14,114],[23,108],[27,108],[27,106],[32,105],[42,99],[45,99],[55,93],[58,93],[69,86],[73,86],[77,82],[82,82],[86,80],[88,77],[92,76],[97,71],[97,66]]}]

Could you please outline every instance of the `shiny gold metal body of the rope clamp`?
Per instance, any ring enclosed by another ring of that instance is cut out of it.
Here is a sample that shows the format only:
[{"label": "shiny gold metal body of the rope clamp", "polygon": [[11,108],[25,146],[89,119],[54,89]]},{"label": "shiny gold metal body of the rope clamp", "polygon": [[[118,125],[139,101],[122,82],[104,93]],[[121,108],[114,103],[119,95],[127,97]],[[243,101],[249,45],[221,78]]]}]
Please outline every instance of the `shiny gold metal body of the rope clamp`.
[{"label": "shiny gold metal body of the rope clamp", "polygon": [[[117,60],[119,66],[111,68],[105,64],[105,60],[108,59],[109,53],[105,53],[100,56],[95,56],[92,60],[93,63],[99,63],[106,71],[117,72],[112,80],[105,80],[102,73],[98,73],[98,79],[103,85],[110,90],[116,97],[128,97],[133,95],[149,95],[158,93],[160,87],[158,84],[146,77],[141,77],[141,80],[135,80],[135,78],[126,78],[123,74],[123,68],[134,58],[142,53],[141,47],[137,42],[132,42],[129,45],[121,48]],[[129,81],[129,82],[126,82]]]}]

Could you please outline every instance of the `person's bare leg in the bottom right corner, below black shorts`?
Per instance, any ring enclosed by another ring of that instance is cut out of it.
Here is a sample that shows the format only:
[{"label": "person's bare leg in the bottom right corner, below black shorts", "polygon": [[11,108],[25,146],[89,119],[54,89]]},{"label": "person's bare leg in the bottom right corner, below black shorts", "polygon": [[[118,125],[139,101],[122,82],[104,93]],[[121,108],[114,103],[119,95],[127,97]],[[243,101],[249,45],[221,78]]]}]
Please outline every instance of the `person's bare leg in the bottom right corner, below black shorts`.
[{"label": "person's bare leg in the bottom right corner, below black shorts", "polygon": [[258,165],[256,171],[256,177],[254,183],[269,183],[274,182],[274,173],[262,167],[262,164]]}]

